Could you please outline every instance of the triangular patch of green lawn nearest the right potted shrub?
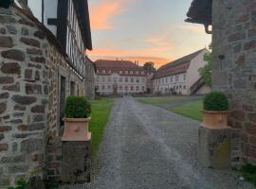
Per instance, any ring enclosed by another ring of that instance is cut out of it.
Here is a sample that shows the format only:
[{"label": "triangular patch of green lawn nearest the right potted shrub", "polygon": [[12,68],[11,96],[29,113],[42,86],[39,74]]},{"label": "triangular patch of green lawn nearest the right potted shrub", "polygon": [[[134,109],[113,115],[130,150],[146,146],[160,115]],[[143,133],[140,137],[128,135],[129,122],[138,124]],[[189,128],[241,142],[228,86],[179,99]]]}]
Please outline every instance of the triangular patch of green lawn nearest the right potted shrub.
[{"label": "triangular patch of green lawn nearest the right potted shrub", "polygon": [[169,111],[184,115],[186,117],[190,117],[198,121],[202,121],[202,110],[203,102],[200,100],[183,106],[172,107]]}]

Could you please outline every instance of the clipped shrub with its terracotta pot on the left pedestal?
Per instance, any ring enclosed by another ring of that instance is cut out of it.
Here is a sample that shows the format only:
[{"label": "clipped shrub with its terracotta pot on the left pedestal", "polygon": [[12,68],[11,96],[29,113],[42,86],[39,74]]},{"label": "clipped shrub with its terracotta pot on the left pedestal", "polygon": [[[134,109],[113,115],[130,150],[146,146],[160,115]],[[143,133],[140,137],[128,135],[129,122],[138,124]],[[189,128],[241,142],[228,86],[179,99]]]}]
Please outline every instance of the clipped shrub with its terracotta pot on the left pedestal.
[{"label": "clipped shrub with its terracotta pot on the left pedestal", "polygon": [[62,141],[88,141],[91,133],[88,123],[91,121],[91,105],[83,96],[70,95],[64,108],[64,135]]}]

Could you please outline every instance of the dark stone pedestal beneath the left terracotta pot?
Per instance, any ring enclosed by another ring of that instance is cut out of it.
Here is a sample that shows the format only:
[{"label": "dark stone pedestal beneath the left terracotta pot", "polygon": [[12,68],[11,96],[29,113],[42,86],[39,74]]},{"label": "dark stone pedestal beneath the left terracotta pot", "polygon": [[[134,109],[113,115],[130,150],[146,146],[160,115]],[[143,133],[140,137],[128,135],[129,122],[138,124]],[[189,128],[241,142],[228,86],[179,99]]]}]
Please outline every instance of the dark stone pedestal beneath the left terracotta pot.
[{"label": "dark stone pedestal beneath the left terracotta pot", "polygon": [[64,141],[62,180],[64,182],[88,182],[90,172],[91,141]]}]

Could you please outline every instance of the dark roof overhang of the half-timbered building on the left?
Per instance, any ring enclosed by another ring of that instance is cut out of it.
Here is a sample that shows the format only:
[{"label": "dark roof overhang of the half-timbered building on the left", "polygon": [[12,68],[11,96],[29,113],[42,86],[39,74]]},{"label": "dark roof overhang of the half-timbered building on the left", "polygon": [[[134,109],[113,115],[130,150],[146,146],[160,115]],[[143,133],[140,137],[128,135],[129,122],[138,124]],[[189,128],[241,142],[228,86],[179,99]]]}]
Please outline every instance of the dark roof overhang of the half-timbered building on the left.
[{"label": "dark roof overhang of the half-timbered building on the left", "polygon": [[90,16],[88,9],[87,0],[75,0],[73,1],[75,8],[78,12],[78,19],[80,26],[82,27],[82,40],[85,44],[85,48],[92,50],[92,38],[91,38],[91,26],[90,26]]}]

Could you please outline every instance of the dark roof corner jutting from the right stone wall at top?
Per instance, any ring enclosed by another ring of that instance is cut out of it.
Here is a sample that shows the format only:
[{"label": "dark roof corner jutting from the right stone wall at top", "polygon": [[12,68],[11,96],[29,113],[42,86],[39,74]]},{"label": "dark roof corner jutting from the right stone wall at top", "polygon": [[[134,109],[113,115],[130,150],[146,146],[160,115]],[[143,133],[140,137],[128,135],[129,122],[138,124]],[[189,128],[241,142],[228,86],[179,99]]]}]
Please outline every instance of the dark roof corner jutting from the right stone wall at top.
[{"label": "dark roof corner jutting from the right stone wall at top", "polygon": [[186,19],[188,23],[211,25],[212,0],[192,0]]}]

